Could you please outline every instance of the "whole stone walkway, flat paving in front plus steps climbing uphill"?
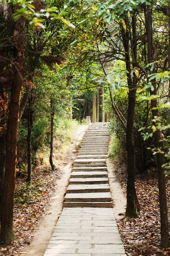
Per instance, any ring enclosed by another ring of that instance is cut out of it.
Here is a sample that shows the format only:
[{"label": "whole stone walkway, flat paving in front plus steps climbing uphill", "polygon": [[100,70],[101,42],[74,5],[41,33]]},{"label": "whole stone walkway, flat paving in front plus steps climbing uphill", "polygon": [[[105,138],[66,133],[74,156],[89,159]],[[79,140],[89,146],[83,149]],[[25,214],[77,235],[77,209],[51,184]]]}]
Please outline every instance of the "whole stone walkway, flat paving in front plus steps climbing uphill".
[{"label": "whole stone walkway, flat paving in front plus steps climbing uphill", "polygon": [[44,256],[126,256],[112,211],[106,157],[107,123],[86,131]]}]

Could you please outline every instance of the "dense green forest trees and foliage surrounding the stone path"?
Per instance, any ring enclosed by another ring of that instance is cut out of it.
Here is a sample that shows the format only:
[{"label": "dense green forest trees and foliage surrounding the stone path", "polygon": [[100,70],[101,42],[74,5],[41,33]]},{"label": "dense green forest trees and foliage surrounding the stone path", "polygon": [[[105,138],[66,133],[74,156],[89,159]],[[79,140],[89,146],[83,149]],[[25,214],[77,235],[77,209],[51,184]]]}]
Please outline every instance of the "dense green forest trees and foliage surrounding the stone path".
[{"label": "dense green forest trees and foliage surrounding the stone path", "polygon": [[26,175],[18,195],[28,195],[42,151],[57,168],[53,140],[69,141],[61,131],[75,123],[72,117],[109,116],[110,155],[127,172],[125,217],[134,223],[143,207],[135,173],[152,180],[160,213],[150,211],[156,208],[160,240],[153,232],[147,239],[169,248],[170,2],[2,0],[0,24],[1,241],[14,241],[16,170]]}]

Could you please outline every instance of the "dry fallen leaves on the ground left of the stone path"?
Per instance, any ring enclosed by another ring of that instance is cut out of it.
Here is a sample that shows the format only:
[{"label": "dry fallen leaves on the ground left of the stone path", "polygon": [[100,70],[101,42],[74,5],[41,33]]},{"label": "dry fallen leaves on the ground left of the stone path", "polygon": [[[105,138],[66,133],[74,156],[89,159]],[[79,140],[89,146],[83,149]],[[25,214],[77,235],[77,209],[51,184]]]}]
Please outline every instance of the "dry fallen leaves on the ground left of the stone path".
[{"label": "dry fallen leaves on the ground left of the stone path", "polygon": [[61,170],[43,171],[36,169],[32,175],[32,185],[26,186],[25,178],[16,179],[14,195],[14,232],[15,240],[8,246],[0,246],[0,256],[20,256],[21,249],[33,240],[40,218],[50,204],[56,189],[56,179],[62,176]]}]

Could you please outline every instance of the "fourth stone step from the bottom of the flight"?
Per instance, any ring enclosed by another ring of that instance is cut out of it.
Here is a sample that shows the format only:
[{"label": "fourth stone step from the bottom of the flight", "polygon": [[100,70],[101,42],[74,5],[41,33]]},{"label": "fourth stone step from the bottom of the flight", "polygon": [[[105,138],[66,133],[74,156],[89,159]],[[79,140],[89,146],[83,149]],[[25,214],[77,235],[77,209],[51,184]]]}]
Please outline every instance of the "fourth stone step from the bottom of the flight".
[{"label": "fourth stone step from the bottom of the flight", "polygon": [[108,178],[70,178],[69,184],[104,184],[109,183]]}]

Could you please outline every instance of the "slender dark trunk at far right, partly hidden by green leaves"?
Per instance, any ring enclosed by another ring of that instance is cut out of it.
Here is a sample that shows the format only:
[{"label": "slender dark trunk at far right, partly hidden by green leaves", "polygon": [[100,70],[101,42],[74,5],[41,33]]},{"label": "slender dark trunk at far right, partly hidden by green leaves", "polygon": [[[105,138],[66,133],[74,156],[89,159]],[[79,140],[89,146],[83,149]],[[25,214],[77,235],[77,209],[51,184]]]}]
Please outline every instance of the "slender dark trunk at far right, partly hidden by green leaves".
[{"label": "slender dark trunk at far right, partly hidden by green leaves", "polygon": [[[158,41],[154,49],[152,49],[152,10],[147,11],[145,9],[145,20],[146,20],[146,32],[147,32],[147,56],[148,63],[154,62],[157,60],[158,55]],[[156,73],[156,68],[154,67],[153,72]],[[152,80],[152,85],[154,87],[151,95],[157,95],[156,90],[156,80]],[[151,100],[152,116],[155,119],[155,116],[159,116],[157,99]],[[156,108],[156,109],[154,109]],[[153,125],[156,126],[156,122],[153,122]],[[162,140],[162,135],[160,130],[154,132],[155,137],[155,147],[156,149],[161,148],[161,151],[164,151],[164,142]],[[169,230],[168,230],[168,217],[167,217],[167,195],[166,195],[166,179],[164,168],[164,154],[158,152],[156,154],[156,163],[157,163],[157,172],[158,172],[158,189],[159,189],[159,208],[160,208],[160,218],[161,218],[161,247],[169,248]]]}]

